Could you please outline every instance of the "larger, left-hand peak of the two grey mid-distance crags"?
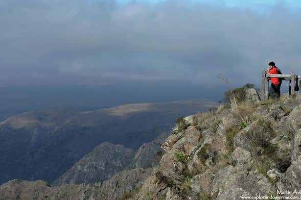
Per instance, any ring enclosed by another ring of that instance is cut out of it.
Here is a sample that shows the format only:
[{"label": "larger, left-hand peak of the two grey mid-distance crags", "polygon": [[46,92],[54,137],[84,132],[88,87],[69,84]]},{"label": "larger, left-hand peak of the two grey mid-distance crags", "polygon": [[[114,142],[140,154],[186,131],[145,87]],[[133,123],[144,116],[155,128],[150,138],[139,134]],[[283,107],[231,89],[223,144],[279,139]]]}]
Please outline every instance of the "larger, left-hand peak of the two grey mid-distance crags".
[{"label": "larger, left-hand peak of the two grey mid-distance crags", "polygon": [[54,185],[103,182],[119,171],[132,169],[134,155],[133,149],[103,142],[68,169]]}]

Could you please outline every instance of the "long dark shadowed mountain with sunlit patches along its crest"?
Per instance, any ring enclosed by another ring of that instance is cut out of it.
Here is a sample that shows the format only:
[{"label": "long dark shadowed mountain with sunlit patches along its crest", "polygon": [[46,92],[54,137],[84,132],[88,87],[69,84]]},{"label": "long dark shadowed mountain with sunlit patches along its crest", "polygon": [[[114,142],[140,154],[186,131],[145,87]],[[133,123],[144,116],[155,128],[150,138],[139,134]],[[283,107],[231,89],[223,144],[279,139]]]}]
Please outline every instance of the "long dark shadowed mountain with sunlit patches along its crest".
[{"label": "long dark shadowed mountain with sunlit patches along its crest", "polygon": [[216,105],[209,99],[131,104],[90,112],[55,108],[0,122],[0,184],[12,179],[55,181],[107,141],[138,149],[169,130],[178,116]]}]

